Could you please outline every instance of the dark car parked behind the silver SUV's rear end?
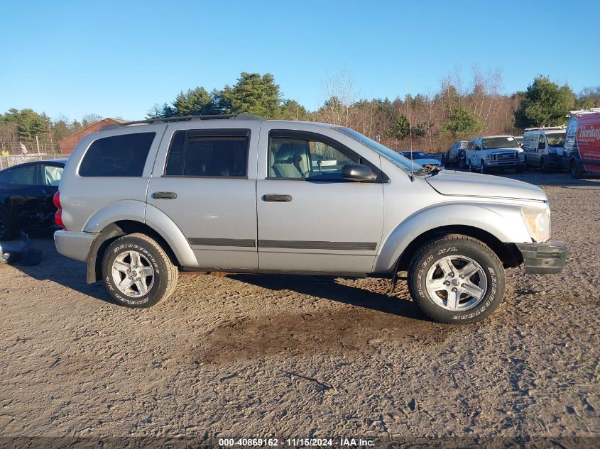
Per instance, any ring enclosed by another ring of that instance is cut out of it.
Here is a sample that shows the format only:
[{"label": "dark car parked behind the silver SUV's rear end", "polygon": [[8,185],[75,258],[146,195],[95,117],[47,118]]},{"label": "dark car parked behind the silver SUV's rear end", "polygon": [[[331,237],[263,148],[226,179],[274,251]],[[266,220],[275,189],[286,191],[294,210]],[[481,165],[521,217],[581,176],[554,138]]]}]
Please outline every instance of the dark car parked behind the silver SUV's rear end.
[{"label": "dark car parked behind the silver SUV's rear end", "polygon": [[54,228],[58,191],[66,159],[26,162],[0,171],[0,240],[21,229]]}]

